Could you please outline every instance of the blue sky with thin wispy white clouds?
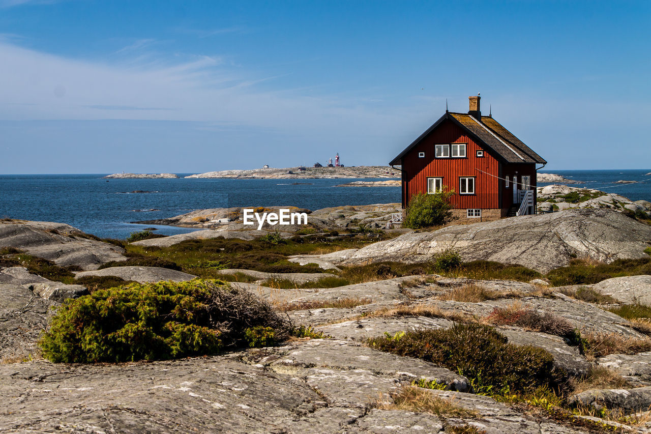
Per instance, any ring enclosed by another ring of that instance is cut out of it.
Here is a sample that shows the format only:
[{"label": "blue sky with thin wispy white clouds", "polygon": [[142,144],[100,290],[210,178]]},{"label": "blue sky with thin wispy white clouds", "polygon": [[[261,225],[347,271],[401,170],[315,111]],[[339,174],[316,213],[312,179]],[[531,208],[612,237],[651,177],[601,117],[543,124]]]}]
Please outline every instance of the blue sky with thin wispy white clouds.
[{"label": "blue sky with thin wispy white clouds", "polygon": [[546,169],[651,169],[648,1],[0,0],[0,173],[387,164],[482,112]]}]

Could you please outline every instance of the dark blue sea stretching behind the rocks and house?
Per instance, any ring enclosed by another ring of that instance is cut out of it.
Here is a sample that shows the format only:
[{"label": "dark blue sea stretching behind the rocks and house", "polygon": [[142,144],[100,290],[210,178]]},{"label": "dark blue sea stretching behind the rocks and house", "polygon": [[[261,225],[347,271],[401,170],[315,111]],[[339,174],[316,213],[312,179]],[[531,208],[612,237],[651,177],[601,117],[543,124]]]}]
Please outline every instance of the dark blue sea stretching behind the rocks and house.
[{"label": "dark blue sea stretching behind the rocks and house", "polygon": [[[544,171],[547,172],[547,171]],[[651,169],[549,171],[573,184],[651,201]],[[192,210],[222,207],[295,206],[320,209],[340,205],[400,202],[398,187],[337,187],[378,179],[103,179],[89,175],[0,175],[0,218],[61,222],[98,237],[125,239],[155,227],[174,235],[196,229],[132,222],[155,220]],[[616,181],[643,181],[615,184]],[[546,185],[546,184],[538,184]]]}]

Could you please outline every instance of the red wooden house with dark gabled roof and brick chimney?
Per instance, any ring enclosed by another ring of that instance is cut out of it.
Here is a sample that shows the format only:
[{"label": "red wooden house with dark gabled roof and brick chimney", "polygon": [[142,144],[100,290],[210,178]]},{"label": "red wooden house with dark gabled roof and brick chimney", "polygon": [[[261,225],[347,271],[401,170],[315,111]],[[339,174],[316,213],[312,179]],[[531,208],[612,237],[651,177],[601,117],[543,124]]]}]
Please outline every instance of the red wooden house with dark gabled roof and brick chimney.
[{"label": "red wooden house with dark gabled roof and brick chimney", "polygon": [[468,113],[446,110],[389,163],[402,166],[403,209],[414,194],[448,189],[462,222],[534,214],[536,170],[547,162],[491,115],[482,116],[480,96],[469,98]]}]

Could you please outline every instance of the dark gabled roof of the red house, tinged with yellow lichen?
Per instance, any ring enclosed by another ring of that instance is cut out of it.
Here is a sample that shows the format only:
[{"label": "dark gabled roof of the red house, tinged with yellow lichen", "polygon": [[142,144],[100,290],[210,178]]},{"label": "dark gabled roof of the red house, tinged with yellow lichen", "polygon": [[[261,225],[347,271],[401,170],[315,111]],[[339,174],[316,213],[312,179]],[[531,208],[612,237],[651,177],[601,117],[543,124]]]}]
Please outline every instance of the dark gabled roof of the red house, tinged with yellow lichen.
[{"label": "dark gabled roof of the red house, tinged with yellow lichen", "polygon": [[391,166],[402,164],[402,158],[446,119],[450,119],[450,121],[464,129],[478,144],[495,151],[507,163],[547,163],[546,160],[522,143],[518,137],[511,134],[510,131],[492,117],[482,116],[481,122],[479,122],[475,117],[467,113],[446,111],[445,115],[441,116],[438,121],[415,139],[404,151],[400,152],[389,164]]}]

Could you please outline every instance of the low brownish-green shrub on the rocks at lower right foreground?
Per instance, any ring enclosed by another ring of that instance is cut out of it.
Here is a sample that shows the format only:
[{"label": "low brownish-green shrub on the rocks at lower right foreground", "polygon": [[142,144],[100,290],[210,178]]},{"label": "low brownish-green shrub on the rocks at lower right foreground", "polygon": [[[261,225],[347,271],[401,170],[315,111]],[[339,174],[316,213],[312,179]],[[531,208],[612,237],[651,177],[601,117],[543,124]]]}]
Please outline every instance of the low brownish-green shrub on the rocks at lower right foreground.
[{"label": "low brownish-green shrub on the rocks at lower right foreground", "polygon": [[368,340],[370,347],[434,362],[465,375],[482,394],[526,392],[539,386],[558,388],[566,373],[539,348],[512,345],[484,325],[456,324],[447,330],[417,330]]}]

